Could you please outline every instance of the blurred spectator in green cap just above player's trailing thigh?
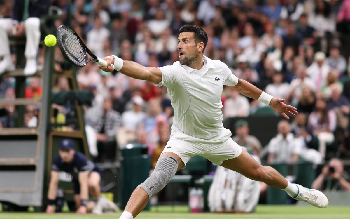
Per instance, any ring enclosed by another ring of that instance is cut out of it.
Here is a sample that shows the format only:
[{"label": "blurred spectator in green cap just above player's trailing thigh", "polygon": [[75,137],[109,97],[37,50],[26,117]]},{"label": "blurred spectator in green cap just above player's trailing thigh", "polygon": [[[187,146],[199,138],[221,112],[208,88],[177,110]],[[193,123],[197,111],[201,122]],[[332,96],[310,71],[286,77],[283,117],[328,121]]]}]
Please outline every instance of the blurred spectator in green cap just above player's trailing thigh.
[{"label": "blurred spectator in green cap just above player's trailing thigh", "polygon": [[261,151],[261,143],[255,136],[249,135],[248,122],[239,119],[235,123],[236,135],[232,137],[240,146],[245,146],[247,150],[252,150],[255,155],[259,155]]}]

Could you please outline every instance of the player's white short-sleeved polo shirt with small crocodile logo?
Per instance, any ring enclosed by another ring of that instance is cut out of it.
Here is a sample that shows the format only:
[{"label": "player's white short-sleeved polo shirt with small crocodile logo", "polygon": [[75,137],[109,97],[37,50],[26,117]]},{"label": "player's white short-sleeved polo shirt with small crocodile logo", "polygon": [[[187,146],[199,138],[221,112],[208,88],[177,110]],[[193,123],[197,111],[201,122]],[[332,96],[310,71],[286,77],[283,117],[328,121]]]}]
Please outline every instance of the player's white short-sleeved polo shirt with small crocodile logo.
[{"label": "player's white short-sleeved polo shirt with small crocodile logo", "polygon": [[159,68],[174,108],[172,135],[212,140],[230,137],[222,123],[223,85],[234,86],[238,78],[225,63],[203,56],[203,68],[190,68],[175,62]]}]

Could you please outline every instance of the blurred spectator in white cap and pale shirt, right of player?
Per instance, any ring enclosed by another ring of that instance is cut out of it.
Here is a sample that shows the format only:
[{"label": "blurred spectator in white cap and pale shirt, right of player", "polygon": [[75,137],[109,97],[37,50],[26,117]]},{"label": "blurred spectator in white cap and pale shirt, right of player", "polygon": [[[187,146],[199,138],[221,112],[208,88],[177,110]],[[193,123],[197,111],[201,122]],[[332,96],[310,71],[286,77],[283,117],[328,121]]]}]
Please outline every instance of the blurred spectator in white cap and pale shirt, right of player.
[{"label": "blurred spectator in white cap and pale shirt, right of player", "polygon": [[307,68],[306,72],[309,77],[315,83],[315,90],[321,88],[325,84],[327,74],[330,70],[330,67],[325,63],[325,54],[323,52],[317,52],[314,55],[314,62],[310,67]]}]

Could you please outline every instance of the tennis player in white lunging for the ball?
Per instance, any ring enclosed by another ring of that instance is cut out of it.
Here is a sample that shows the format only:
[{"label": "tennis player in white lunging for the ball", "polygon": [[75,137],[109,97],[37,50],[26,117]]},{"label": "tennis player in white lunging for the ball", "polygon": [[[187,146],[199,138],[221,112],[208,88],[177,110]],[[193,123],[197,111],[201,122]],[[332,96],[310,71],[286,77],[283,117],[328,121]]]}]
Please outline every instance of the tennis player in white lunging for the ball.
[{"label": "tennis player in white lunging for the ball", "polygon": [[[285,190],[297,200],[320,208],[327,207],[328,199],[322,192],[290,183],[272,167],[258,164],[232,141],[230,130],[225,129],[222,123],[223,85],[232,86],[240,94],[269,105],[287,119],[287,114],[297,114],[296,108],[283,103],[284,99],[268,95],[237,78],[223,62],[204,56],[208,36],[202,28],[184,25],[179,32],[177,49],[180,62],[171,66],[147,68],[114,55],[104,58],[107,67],[99,66],[107,72],[115,68],[127,76],[147,80],[157,86],[165,85],[174,108],[170,139],[153,173],[134,190],[120,219],[136,217],[149,198],[163,189],[176,171],[184,169],[188,160],[195,155],[250,179]],[[114,64],[114,68],[111,64]]]}]

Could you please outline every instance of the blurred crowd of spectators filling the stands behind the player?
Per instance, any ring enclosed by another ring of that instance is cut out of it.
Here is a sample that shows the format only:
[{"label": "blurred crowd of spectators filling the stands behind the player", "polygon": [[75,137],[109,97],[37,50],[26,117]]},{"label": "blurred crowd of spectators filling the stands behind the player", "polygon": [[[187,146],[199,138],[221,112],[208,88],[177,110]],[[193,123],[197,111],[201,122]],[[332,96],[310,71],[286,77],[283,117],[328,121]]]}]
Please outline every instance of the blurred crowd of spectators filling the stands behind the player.
[{"label": "blurred crowd of spectators filling the stands behind the player", "polygon": [[[295,162],[302,151],[313,150],[316,163],[322,163],[330,145],[336,148],[332,156],[350,150],[350,0],[74,0],[71,7],[65,0],[51,2],[63,11],[55,26],[69,24],[94,54],[114,54],[148,67],[178,61],[179,28],[201,26],[209,38],[205,56],[298,109],[292,124],[279,123],[279,134],[268,145],[269,162]],[[55,71],[71,69],[55,50]],[[0,77],[0,98],[11,95],[11,80]],[[149,146],[154,162],[172,125],[166,88],[100,71],[91,62],[78,69],[77,81],[79,89],[95,95],[85,108],[85,122],[97,139],[96,159],[113,161],[118,145],[140,142]],[[26,98],[41,95],[37,83],[30,79]],[[55,89],[69,90],[68,84],[68,78],[59,77]],[[246,117],[266,107],[230,87],[223,88],[222,104],[224,118]],[[62,107],[55,109],[64,113]],[[0,127],[7,124],[0,122]],[[237,142],[244,132],[237,133]],[[288,149],[289,144],[295,148]],[[245,146],[261,150],[261,145]],[[278,156],[281,147],[290,157]]]}]

